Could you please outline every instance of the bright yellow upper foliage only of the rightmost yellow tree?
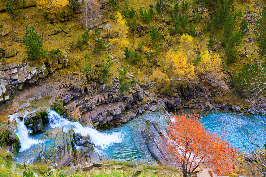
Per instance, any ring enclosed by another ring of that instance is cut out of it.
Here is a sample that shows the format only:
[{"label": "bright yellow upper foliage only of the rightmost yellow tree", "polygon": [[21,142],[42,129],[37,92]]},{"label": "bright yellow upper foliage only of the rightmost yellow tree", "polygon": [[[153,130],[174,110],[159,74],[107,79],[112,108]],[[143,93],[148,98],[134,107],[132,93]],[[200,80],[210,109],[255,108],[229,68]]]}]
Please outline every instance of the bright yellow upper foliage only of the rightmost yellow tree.
[{"label": "bright yellow upper foliage only of the rightmost yellow tree", "polygon": [[199,73],[218,73],[221,71],[221,58],[219,54],[212,54],[205,50],[204,53],[200,53],[201,61],[198,65]]}]

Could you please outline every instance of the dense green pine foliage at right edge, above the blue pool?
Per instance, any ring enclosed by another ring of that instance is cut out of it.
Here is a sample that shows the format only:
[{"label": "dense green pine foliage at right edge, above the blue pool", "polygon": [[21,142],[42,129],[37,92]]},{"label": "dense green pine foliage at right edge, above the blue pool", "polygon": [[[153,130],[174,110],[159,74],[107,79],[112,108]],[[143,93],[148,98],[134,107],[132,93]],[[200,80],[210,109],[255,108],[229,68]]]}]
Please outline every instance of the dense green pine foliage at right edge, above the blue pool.
[{"label": "dense green pine foliage at right edge, above the blue pool", "polygon": [[[255,79],[260,79],[260,82],[266,82],[266,61],[264,61],[261,65],[255,62],[250,68],[247,64],[244,65],[243,69],[236,73],[234,72],[231,82],[234,84],[234,88],[237,93],[248,93],[254,94],[257,93],[259,89],[254,89],[253,91],[247,91],[250,88],[251,83],[258,82]],[[263,88],[259,86],[260,89]]]}]

